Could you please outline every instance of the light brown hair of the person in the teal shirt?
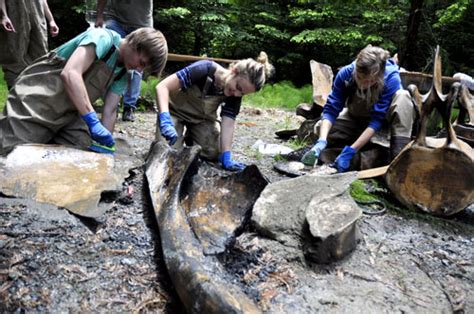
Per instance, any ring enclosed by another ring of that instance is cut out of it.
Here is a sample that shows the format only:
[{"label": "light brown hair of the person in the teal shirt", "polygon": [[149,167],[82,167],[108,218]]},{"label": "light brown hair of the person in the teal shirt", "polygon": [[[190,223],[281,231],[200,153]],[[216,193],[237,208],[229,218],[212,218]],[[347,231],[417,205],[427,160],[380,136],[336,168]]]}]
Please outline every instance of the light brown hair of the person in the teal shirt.
[{"label": "light brown hair of the person in the teal shirt", "polygon": [[151,27],[142,27],[128,34],[125,40],[132,49],[146,54],[147,70],[159,76],[168,59],[168,44],[163,33]]}]

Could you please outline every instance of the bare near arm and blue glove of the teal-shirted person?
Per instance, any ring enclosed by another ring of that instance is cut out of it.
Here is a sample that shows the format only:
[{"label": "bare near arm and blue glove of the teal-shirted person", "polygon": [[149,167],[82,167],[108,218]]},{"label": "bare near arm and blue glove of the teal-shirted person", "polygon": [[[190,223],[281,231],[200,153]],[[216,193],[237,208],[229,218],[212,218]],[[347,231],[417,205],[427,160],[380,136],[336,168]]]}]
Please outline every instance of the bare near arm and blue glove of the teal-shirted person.
[{"label": "bare near arm and blue glove of the teal-shirted person", "polygon": [[89,127],[92,139],[101,145],[112,147],[115,145],[115,141],[111,132],[97,118],[82,76],[90,68],[95,58],[94,45],[79,46],[72,53],[61,71],[61,80],[63,81],[66,93]]}]

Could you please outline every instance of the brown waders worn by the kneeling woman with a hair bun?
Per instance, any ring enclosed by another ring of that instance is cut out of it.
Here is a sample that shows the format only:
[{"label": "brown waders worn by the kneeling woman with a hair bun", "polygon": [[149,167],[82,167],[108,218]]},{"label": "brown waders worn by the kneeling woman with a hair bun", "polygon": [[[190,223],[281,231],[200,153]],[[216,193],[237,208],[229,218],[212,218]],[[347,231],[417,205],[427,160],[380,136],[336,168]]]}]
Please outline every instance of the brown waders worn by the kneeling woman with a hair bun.
[{"label": "brown waders worn by the kneeling woman with a hair bun", "polygon": [[[220,153],[220,124],[217,119],[217,110],[224,98],[224,96],[203,95],[197,86],[170,94],[170,114],[178,133],[178,141],[173,147],[182,147],[186,138],[192,144],[202,147],[201,157],[212,161],[217,160]],[[160,133],[159,123],[156,129],[156,140],[164,140]]]}]

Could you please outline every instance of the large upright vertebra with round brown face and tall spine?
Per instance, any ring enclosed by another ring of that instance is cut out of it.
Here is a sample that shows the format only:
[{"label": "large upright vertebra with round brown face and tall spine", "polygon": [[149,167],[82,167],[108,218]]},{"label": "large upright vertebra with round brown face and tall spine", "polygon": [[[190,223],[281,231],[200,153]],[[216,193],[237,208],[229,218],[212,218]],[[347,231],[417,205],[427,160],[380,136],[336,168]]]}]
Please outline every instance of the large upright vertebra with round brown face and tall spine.
[{"label": "large upright vertebra with round brown face and tall spine", "polygon": [[[409,87],[421,108],[421,127],[416,140],[393,160],[385,179],[398,200],[434,215],[449,216],[474,202],[474,151],[460,141],[450,123],[451,108],[460,84],[449,94],[441,92],[441,57],[436,50],[433,85],[428,94]],[[443,117],[446,140],[426,137],[430,113],[437,109]]]}]

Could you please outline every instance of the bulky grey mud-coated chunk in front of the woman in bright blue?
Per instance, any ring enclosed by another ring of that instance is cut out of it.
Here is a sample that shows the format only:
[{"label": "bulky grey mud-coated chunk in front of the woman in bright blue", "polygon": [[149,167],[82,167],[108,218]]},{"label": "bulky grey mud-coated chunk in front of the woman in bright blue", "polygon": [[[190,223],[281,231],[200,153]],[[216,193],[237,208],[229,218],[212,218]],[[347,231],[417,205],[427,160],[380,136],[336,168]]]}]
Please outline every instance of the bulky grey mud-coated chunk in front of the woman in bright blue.
[{"label": "bulky grey mud-coated chunk in front of the woman in bright blue", "polygon": [[303,249],[318,263],[346,256],[356,245],[360,208],[348,194],[355,172],[307,175],[268,185],[254,205],[257,230],[287,246]]}]

